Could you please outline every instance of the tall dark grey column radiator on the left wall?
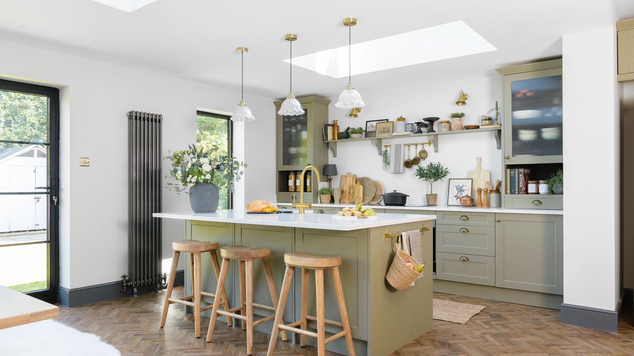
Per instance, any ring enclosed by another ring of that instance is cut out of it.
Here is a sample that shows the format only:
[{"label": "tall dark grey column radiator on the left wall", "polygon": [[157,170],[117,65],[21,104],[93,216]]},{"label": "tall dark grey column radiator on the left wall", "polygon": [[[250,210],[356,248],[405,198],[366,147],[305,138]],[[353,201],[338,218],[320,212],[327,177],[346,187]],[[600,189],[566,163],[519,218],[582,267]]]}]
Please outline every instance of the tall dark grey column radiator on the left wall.
[{"label": "tall dark grey column radiator on the left wall", "polygon": [[129,287],[155,290],[165,282],[161,273],[161,223],[152,213],[161,211],[161,125],[163,116],[129,111],[128,118],[128,274]]}]

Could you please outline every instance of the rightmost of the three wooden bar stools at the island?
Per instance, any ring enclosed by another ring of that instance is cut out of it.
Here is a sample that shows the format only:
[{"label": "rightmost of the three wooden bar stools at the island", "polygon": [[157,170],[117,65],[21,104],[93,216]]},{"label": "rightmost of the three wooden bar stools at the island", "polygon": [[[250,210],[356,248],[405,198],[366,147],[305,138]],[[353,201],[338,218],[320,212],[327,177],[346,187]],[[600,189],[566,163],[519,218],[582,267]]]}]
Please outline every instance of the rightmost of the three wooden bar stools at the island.
[{"label": "rightmost of the three wooden bar stools at the island", "polygon": [[[306,346],[306,336],[317,338],[317,354],[323,356],[326,354],[326,344],[330,341],[337,340],[341,336],[346,336],[346,344],[348,354],[354,356],[353,335],[350,331],[348,322],[348,313],[346,310],[346,302],[344,300],[344,291],[341,287],[341,278],[339,276],[339,265],[341,257],[330,257],[325,255],[313,255],[304,252],[290,252],[284,254],[284,262],[286,263],[286,275],[281,286],[280,303],[276,310],[275,324],[273,324],[273,332],[271,333],[271,341],[269,342],[269,351],[267,356],[273,356],[275,352],[275,344],[277,343],[277,335],[280,329],[291,331],[292,333],[301,334],[300,345]],[[288,297],[288,290],[293,279],[295,267],[302,269],[302,315],[301,320],[284,325],[282,315]],[[311,269],[315,270],[315,293],[317,295],[317,316],[307,315],[308,309],[308,277]],[[325,269],[332,270],[332,279],[335,285],[335,293],[337,293],[337,304],[339,304],[339,314],[341,322],[326,319],[324,312],[324,288],[323,288],[323,271]],[[307,330],[308,321],[317,322],[317,332]],[[326,324],[342,327],[344,330],[340,333],[326,338]],[[297,329],[301,326],[301,329]]]}]

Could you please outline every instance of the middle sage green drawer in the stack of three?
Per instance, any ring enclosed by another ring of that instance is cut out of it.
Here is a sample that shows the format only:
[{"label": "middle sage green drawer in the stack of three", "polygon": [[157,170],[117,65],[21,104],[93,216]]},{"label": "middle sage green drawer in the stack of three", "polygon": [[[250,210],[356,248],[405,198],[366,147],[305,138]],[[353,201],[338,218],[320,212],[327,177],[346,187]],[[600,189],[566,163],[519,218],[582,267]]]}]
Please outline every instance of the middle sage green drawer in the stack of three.
[{"label": "middle sage green drawer in the stack of three", "polygon": [[436,251],[495,257],[495,227],[437,225]]}]

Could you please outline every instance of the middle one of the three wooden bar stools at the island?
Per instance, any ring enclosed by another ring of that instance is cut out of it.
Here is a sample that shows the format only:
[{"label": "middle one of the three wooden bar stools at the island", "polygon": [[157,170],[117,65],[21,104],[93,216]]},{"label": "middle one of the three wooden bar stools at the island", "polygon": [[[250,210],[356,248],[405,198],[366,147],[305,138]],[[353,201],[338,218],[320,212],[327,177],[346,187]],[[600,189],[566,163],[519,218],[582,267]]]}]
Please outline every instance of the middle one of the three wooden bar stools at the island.
[{"label": "middle one of the three wooden bar stools at the island", "polygon": [[[256,248],[248,246],[224,246],[220,248],[220,255],[223,257],[223,266],[220,269],[220,277],[218,278],[218,287],[216,295],[223,293],[224,281],[227,277],[230,260],[238,260],[240,264],[240,307],[225,310],[219,310],[220,303],[214,302],[214,308],[211,312],[211,321],[209,322],[209,330],[207,331],[207,342],[212,340],[214,334],[214,326],[216,326],[217,315],[225,315],[226,317],[235,317],[242,321],[242,329],[247,331],[247,355],[253,354],[253,327],[262,322],[267,322],[275,318],[275,307],[262,305],[253,302],[253,261],[262,260],[264,264],[264,272],[266,274],[266,283],[269,285],[271,300],[273,305],[277,305],[278,297],[275,289],[275,281],[273,281],[273,272],[269,264],[270,248]],[[258,321],[253,321],[253,307],[271,310],[274,314],[264,317]],[[240,314],[235,312],[240,311]],[[282,310],[282,314],[283,314]],[[245,324],[246,322],[246,324]],[[282,340],[286,341],[287,336],[284,331],[281,335]]]}]

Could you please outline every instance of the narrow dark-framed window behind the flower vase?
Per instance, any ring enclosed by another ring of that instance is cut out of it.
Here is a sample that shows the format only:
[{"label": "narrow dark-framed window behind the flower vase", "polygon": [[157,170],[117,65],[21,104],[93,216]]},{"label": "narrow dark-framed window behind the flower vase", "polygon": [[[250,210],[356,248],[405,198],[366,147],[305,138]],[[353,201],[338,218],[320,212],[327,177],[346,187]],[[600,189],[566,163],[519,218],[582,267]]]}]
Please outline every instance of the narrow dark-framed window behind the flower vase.
[{"label": "narrow dark-framed window behind the flower vase", "polygon": [[[225,149],[225,153],[232,154],[231,120],[227,115],[197,111],[196,143],[205,146],[217,144]],[[231,209],[231,193],[227,188],[220,189],[219,209]]]}]

